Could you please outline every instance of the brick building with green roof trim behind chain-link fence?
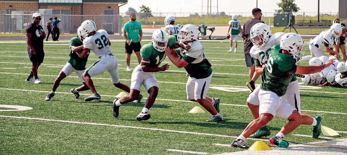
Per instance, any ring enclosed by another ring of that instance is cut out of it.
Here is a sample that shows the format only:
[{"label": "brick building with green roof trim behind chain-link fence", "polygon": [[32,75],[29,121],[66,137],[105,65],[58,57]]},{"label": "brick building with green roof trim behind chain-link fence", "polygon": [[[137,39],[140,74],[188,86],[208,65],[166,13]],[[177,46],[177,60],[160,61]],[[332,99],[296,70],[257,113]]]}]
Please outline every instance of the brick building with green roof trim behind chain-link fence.
[{"label": "brick building with green roof trim behind chain-link fence", "polygon": [[22,14],[40,12],[42,27],[50,17],[60,18],[61,33],[74,33],[87,19],[94,20],[98,29],[118,33],[121,19],[112,15],[119,14],[119,7],[126,3],[127,0],[0,0],[0,32],[23,31],[32,17]]}]

